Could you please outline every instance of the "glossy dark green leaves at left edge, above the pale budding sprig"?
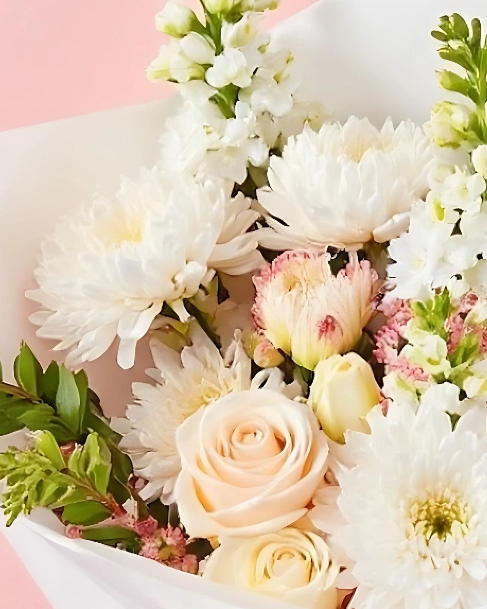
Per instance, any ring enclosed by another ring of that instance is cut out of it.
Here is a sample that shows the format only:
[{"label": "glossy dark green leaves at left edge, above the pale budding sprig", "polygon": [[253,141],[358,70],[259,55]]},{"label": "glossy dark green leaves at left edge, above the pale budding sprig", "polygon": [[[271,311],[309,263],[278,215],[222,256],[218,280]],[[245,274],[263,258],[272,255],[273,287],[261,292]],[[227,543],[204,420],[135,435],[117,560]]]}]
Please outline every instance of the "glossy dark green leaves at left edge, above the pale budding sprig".
[{"label": "glossy dark green leaves at left edge, above the pale budding sprig", "polygon": [[[78,443],[83,448],[70,457],[70,471],[77,479],[83,479],[84,472],[85,485],[91,485],[101,495],[113,496],[117,504],[127,501],[131,495],[131,461],[119,450],[121,436],[103,417],[99,398],[89,389],[85,372],[74,373],[57,362],[51,362],[43,371],[23,343],[15,359],[14,376],[18,386],[0,382],[0,435],[24,428],[47,431],[58,452],[58,445]],[[54,447],[49,459],[58,471],[62,469]]]}]

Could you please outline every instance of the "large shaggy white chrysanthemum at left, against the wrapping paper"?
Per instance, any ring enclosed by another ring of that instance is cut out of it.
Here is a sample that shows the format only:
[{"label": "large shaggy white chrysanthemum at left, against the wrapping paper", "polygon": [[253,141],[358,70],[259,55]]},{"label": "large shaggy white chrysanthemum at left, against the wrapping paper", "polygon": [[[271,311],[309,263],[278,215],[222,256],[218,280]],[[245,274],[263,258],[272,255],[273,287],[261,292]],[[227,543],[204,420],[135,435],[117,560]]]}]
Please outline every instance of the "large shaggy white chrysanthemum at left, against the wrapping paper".
[{"label": "large shaggy white chrysanthemum at left, against the wrapping paper", "polygon": [[45,311],[32,315],[38,336],[60,341],[66,362],[91,361],[120,338],[117,361],[130,368],[136,342],[166,302],[187,317],[183,298],[214,270],[239,275],[260,266],[258,214],[231,184],[196,183],[172,172],[124,180],[116,197],[61,221],[43,244],[39,289]]}]

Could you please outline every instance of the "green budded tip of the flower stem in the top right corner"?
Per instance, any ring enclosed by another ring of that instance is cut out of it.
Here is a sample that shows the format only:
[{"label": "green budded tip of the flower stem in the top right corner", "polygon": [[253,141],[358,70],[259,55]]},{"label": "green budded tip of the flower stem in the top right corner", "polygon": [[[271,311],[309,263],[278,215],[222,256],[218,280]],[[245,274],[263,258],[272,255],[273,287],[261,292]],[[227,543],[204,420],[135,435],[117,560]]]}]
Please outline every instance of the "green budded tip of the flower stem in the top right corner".
[{"label": "green budded tip of the flower stem in the top right corner", "polygon": [[487,42],[482,35],[480,19],[473,19],[469,27],[461,15],[454,13],[441,17],[438,28],[432,36],[441,42],[440,57],[465,70],[464,77],[454,71],[442,70],[438,79],[445,89],[468,97],[477,106],[469,131],[477,136],[478,143],[483,143],[487,140]]}]

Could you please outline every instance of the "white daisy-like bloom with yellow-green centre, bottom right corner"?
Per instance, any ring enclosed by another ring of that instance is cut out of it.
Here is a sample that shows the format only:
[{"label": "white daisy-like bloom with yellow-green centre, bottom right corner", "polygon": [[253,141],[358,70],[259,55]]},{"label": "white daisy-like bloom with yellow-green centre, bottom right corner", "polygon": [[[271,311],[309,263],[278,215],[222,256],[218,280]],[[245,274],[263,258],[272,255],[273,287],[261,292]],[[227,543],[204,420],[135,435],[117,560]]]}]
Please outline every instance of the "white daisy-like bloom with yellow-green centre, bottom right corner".
[{"label": "white daisy-like bloom with yellow-green centre, bottom right corner", "polygon": [[349,566],[337,585],[358,584],[354,609],[485,607],[485,403],[452,429],[450,387],[447,404],[441,387],[417,414],[408,403],[390,404],[387,417],[376,407],[371,435],[347,432],[341,492],[328,487],[314,499],[312,521]]}]

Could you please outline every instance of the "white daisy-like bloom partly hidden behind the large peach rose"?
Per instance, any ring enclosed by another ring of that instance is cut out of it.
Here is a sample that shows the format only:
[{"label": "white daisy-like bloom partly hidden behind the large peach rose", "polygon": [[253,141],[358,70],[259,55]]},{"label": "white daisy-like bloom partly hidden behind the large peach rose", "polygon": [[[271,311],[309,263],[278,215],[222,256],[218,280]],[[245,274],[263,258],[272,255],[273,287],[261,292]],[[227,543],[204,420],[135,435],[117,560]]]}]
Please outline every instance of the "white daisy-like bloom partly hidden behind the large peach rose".
[{"label": "white daisy-like bloom partly hidden behind the large peach rose", "polygon": [[135,474],[148,481],[140,493],[143,499],[172,500],[181,470],[176,431],[200,408],[227,393],[259,387],[291,399],[301,392],[297,382],[284,383],[278,368],[262,370],[251,379],[251,360],[239,331],[225,357],[196,322],[189,326],[188,338],[191,346],[179,353],[164,345],[156,333],[151,337],[156,368],[147,374],[155,384],[134,383],[135,403],[127,407],[126,418],[112,419],[113,428],[124,434],[120,448],[130,455]]}]

